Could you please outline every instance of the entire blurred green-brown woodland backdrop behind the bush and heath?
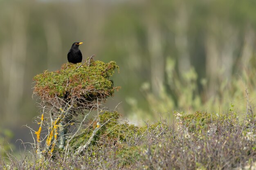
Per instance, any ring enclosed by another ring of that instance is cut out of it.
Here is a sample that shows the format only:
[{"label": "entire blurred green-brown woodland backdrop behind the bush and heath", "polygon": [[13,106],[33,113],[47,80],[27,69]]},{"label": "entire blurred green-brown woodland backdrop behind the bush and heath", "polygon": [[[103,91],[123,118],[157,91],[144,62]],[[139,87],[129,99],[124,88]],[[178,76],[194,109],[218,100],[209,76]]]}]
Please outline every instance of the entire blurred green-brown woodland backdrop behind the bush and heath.
[{"label": "entire blurred green-brown woodland backdrop behind the bush and heath", "polygon": [[40,115],[33,77],[60,69],[77,41],[83,60],[120,66],[121,90],[106,105],[122,102],[130,123],[225,114],[230,102],[243,117],[256,97],[255,9],[255,0],[0,0],[0,143],[31,141],[22,125]]}]

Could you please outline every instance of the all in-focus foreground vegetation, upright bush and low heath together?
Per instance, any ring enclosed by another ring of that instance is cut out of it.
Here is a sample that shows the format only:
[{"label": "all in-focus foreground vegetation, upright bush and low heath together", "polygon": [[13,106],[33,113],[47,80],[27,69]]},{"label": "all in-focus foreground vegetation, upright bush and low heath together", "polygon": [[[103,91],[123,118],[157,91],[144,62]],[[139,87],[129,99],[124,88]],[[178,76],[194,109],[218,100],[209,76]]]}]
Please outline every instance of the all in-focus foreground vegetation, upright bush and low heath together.
[{"label": "all in-focus foreground vegetation, upright bush and low heath together", "polygon": [[[115,62],[105,64],[89,58],[85,64],[64,64],[61,71],[37,75],[34,91],[42,100],[39,105],[42,114],[38,117],[38,130],[30,128],[36,136],[35,142],[21,159],[6,152],[9,163],[0,157],[0,168],[256,168],[256,118],[252,106],[248,105],[243,121],[238,120],[234,105],[230,104],[226,115],[174,112],[173,125],[161,119],[135,126],[120,119],[116,110],[101,104],[114,91],[109,77],[115,68],[118,68]],[[77,87],[80,93],[73,90]],[[93,109],[97,115],[92,116]],[[89,115],[92,118],[85,121]]]}]

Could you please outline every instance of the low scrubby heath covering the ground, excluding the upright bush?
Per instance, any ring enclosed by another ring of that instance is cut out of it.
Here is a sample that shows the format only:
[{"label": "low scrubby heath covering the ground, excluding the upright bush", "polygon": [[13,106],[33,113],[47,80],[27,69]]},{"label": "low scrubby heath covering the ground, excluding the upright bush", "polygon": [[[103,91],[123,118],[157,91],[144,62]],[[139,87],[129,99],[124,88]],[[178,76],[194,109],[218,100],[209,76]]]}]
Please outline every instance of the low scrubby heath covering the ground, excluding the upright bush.
[{"label": "low scrubby heath covering the ground, excluding the upright bush", "polygon": [[[99,116],[102,126],[81,155],[63,159],[58,150],[54,157],[39,159],[36,155],[9,157],[4,170],[13,169],[253,169],[256,167],[256,128],[245,119],[238,122],[236,113],[216,115],[197,112],[192,115],[175,113],[175,126],[166,120],[134,126],[118,121],[117,112]],[[211,118],[212,117],[212,118]],[[75,150],[92,134],[97,125],[91,124],[70,143]],[[177,127],[177,128],[175,128]],[[195,130],[195,127],[198,129]],[[200,130],[202,129],[202,130]],[[214,130],[213,130],[214,129]]]}]

